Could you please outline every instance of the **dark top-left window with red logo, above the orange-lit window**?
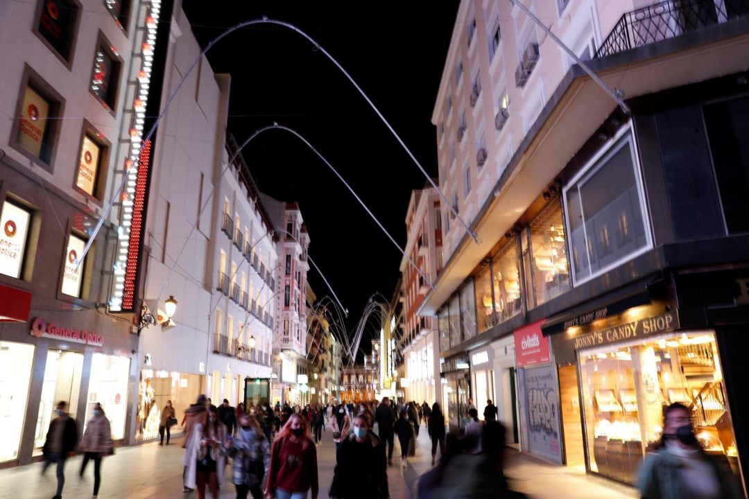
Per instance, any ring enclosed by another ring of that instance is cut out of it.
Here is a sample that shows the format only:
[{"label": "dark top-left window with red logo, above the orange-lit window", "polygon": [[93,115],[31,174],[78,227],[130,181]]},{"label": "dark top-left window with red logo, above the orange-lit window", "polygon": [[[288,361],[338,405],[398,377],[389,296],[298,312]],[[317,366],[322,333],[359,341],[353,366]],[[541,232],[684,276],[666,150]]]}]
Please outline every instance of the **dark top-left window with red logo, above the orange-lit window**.
[{"label": "dark top-left window with red logo, above the orange-lit window", "polygon": [[42,0],[37,22],[37,35],[61,59],[73,58],[73,39],[79,18],[79,4],[70,0]]}]

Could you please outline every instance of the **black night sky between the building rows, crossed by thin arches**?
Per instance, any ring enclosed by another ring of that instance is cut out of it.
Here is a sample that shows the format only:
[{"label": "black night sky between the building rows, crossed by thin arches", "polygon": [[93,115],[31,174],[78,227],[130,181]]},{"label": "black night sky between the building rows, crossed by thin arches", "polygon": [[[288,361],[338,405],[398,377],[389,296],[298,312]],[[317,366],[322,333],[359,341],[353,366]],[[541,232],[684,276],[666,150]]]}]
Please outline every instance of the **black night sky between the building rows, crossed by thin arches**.
[{"label": "black night sky between the building rows, crossed by thin arches", "polygon": [[[184,10],[201,46],[219,27],[261,16],[296,25],[353,76],[437,177],[431,111],[458,3],[186,0]],[[296,129],[404,246],[410,192],[425,177],[325,55],[287,28],[261,25],[230,34],[207,57],[215,73],[231,74],[228,128],[238,143],[273,121]],[[348,307],[349,328],[372,293],[392,296],[401,253],[315,153],[274,130],[250,142],[244,157],[261,191],[300,204],[309,254]],[[330,295],[314,269],[309,283],[318,298]]]}]

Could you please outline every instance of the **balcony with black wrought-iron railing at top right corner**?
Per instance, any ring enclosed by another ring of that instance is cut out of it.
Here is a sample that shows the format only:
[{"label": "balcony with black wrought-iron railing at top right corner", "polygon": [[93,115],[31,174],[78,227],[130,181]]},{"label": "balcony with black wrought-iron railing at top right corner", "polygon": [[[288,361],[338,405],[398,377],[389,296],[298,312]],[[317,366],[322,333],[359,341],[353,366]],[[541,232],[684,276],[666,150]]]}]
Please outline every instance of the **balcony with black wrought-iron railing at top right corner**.
[{"label": "balcony with black wrought-iron railing at top right corner", "polygon": [[624,52],[749,14],[749,0],[667,0],[625,13],[595,52]]}]

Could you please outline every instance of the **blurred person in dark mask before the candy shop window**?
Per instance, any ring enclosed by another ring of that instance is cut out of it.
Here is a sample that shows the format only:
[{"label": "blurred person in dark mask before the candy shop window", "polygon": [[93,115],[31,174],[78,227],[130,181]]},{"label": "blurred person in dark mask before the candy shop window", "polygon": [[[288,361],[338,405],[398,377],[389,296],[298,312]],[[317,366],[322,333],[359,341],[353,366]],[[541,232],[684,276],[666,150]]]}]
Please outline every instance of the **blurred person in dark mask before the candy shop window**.
[{"label": "blurred person in dark mask before the candy shop window", "polygon": [[685,405],[664,410],[661,441],[637,477],[643,499],[733,499],[744,497],[724,459],[705,453]]}]

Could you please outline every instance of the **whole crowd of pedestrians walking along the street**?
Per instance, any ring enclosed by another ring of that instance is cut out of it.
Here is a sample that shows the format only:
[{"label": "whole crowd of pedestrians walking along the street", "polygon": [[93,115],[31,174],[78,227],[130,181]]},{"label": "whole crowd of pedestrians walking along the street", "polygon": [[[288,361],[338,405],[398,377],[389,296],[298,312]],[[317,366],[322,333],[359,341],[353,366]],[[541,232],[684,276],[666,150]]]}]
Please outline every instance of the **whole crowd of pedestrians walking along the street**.
[{"label": "whole crowd of pedestrians walking along the street", "polygon": [[[83,456],[79,474],[89,462],[94,465],[93,498],[99,495],[103,458],[114,453],[109,420],[99,403],[91,413],[79,439],[76,421],[59,402],[43,447],[42,473],[54,464],[61,499],[64,464]],[[330,426],[336,444],[336,467],[328,495],[333,499],[389,498],[387,467],[392,465],[395,435],[401,448],[401,466],[415,455],[419,428],[424,424],[431,440],[432,468],[419,477],[419,499],[524,498],[509,489],[503,473],[505,428],[497,418],[497,407],[488,400],[479,411],[468,399],[461,414],[461,432],[446,433],[440,404],[425,401],[394,403],[388,397],[376,402],[336,405],[238,404],[227,399],[216,407],[204,395],[184,414],[184,490],[206,492],[214,499],[225,486],[225,468],[231,459],[231,483],[237,499],[318,498],[318,456],[323,432]],[[328,425],[326,425],[328,420]],[[170,427],[177,419],[172,402],[162,411],[160,445],[169,445]],[[377,432],[374,431],[375,423]],[[440,459],[437,462],[437,448]],[[645,499],[738,499],[742,498],[735,477],[724,459],[704,452],[694,434],[691,411],[679,403],[664,409],[661,441],[648,453],[640,469],[637,489]]]}]

